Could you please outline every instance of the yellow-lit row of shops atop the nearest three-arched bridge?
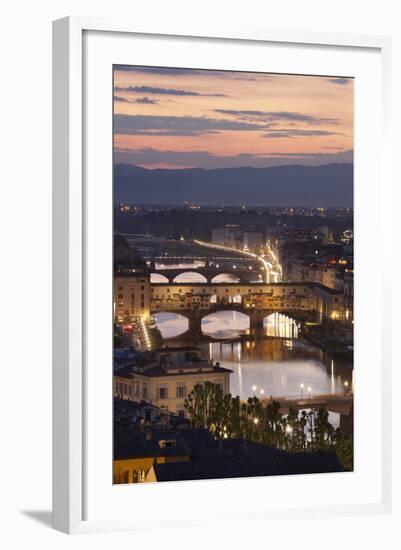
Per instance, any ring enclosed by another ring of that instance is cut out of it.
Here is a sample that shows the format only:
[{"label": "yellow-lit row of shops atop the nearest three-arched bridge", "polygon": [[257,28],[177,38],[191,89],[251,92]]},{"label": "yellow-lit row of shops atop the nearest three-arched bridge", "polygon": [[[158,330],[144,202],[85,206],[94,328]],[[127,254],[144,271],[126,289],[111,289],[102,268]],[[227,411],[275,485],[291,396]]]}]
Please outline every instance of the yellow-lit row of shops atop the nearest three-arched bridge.
[{"label": "yellow-lit row of shops atop the nearest three-arched bridge", "polygon": [[319,319],[346,319],[344,294],[319,283],[151,283],[149,274],[117,273],[114,321],[132,323],[160,311],[246,310],[316,312]]}]

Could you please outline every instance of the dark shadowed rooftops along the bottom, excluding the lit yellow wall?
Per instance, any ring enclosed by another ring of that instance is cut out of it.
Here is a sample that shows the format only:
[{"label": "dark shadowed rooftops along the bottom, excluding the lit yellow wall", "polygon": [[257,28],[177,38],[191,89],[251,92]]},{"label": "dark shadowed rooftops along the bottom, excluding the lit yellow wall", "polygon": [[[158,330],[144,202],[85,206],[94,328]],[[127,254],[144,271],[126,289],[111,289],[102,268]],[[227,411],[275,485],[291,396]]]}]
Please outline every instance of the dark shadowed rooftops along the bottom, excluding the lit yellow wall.
[{"label": "dark shadowed rooftops along the bottom, excluding the lit yellow wall", "polygon": [[[165,443],[167,442],[167,443]],[[202,428],[132,426],[115,437],[115,459],[182,456],[174,463],[155,463],[158,481],[219,479],[344,471],[335,453],[289,453],[243,439],[216,440]],[[188,462],[188,457],[190,461]]]}]

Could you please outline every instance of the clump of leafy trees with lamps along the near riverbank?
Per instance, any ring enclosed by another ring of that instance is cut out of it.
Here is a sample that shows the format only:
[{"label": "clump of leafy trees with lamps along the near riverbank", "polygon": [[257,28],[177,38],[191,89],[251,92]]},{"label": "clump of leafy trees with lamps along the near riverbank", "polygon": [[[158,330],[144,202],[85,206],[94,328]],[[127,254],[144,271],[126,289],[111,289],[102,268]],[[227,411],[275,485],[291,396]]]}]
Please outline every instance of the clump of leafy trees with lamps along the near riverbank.
[{"label": "clump of leafy trees with lamps along the near riverbank", "polygon": [[289,452],[335,451],[345,469],[353,468],[352,438],[333,428],[325,407],[283,415],[277,401],[264,407],[249,397],[241,403],[211,382],[196,384],[184,406],[192,426],[208,429],[217,439],[243,438]]}]

